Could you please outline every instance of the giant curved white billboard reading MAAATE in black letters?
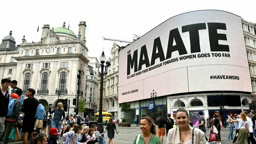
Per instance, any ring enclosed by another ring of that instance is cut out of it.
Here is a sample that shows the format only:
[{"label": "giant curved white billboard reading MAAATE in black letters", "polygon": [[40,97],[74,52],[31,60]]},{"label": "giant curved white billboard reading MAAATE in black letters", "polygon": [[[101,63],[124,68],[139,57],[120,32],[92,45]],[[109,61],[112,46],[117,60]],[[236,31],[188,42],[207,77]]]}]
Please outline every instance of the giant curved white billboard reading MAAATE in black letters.
[{"label": "giant curved white billboard reading MAAATE in black letters", "polygon": [[118,102],[199,91],[252,92],[241,17],[203,10],[174,16],[119,54]]}]

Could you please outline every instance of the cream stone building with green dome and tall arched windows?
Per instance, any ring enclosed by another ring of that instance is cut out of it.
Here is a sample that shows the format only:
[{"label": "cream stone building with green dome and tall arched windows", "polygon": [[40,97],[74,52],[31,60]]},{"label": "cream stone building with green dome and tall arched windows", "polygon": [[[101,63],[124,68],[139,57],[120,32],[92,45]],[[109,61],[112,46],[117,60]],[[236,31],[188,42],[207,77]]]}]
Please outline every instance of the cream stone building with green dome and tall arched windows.
[{"label": "cream stone building with green dome and tall arched windows", "polygon": [[35,89],[35,98],[48,110],[48,105],[57,105],[71,100],[70,113],[74,113],[72,99],[77,96],[78,70],[82,71],[79,99],[84,99],[88,48],[85,43],[85,21],[80,22],[78,35],[62,27],[50,29],[44,25],[41,41],[28,43],[25,36],[22,44],[15,45],[12,32],[0,45],[0,79],[10,78],[25,93]]}]

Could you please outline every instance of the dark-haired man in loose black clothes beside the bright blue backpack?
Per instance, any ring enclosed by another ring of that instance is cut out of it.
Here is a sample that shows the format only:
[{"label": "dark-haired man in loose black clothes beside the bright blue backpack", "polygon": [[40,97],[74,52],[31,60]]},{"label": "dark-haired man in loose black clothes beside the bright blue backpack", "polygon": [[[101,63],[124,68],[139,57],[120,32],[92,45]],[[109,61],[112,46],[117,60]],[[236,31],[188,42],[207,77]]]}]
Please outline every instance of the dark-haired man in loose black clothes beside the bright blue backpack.
[{"label": "dark-haired man in loose black clothes beside the bright blue backpack", "polygon": [[25,96],[27,99],[24,100],[22,112],[24,114],[23,119],[23,144],[28,143],[28,136],[31,138],[31,143],[33,143],[33,131],[36,120],[36,112],[40,102],[34,98],[35,90],[32,88],[27,89]]}]

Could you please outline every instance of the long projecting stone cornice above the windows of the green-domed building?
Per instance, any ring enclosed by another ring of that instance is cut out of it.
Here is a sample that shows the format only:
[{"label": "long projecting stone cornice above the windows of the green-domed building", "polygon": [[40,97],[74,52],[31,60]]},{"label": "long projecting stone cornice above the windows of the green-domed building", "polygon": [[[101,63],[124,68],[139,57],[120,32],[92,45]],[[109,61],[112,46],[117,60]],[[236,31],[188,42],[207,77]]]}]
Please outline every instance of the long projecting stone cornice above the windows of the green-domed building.
[{"label": "long projecting stone cornice above the windows of the green-domed building", "polygon": [[66,57],[80,57],[85,62],[89,62],[89,60],[81,55],[81,54],[63,54],[63,55],[38,55],[38,56],[22,56],[22,57],[14,57],[15,60],[28,60],[28,59],[55,59],[55,58],[66,58]]}]

